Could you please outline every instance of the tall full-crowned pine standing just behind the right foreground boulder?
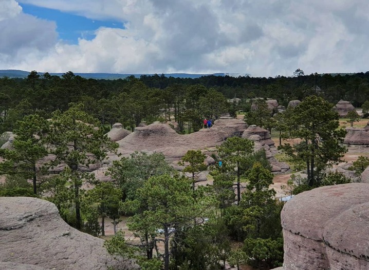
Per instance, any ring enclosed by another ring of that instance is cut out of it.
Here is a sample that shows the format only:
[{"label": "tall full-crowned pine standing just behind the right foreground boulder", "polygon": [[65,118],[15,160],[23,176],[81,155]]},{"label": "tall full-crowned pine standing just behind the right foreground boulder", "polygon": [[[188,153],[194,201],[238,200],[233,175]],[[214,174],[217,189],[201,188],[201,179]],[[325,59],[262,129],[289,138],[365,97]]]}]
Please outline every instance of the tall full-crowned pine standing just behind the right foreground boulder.
[{"label": "tall full-crowned pine standing just behind the right foreground boulder", "polygon": [[347,151],[341,146],[346,131],[339,128],[333,105],[321,97],[308,96],[292,109],[286,118],[282,138],[300,138],[300,142],[283,144],[279,149],[297,160],[306,162],[308,184],[319,185],[319,173],[341,161]]}]

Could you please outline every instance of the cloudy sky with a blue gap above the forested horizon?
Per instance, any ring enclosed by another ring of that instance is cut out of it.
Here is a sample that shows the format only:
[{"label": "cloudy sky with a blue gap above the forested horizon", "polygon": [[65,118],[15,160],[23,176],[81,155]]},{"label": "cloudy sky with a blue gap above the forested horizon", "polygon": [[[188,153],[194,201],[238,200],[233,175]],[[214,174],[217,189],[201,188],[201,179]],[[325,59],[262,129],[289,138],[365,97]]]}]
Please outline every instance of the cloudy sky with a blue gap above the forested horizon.
[{"label": "cloudy sky with a blue gap above the forested horizon", "polygon": [[0,69],[369,70],[367,0],[0,0]]}]

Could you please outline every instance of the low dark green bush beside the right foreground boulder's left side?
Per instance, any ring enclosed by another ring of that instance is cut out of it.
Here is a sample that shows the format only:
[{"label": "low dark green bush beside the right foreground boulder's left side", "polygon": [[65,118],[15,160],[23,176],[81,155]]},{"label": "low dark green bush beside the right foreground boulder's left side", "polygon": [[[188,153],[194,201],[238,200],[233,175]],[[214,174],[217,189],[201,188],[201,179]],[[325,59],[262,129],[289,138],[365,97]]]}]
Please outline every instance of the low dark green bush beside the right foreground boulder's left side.
[{"label": "low dark green bush beside the right foreground boulder's left side", "polygon": [[283,263],[283,238],[246,238],[243,251],[249,265],[257,268],[274,268]]}]

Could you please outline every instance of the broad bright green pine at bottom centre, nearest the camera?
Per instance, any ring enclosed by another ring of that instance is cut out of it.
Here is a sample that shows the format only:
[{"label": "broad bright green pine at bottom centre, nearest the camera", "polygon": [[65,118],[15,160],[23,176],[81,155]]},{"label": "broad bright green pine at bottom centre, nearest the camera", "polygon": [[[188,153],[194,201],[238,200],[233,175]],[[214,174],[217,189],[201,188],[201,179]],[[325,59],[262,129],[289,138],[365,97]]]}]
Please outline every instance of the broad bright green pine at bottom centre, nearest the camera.
[{"label": "broad bright green pine at bottom centre, nearest the camera", "polygon": [[[127,226],[140,237],[147,254],[152,254],[157,241],[164,242],[162,258],[164,269],[168,270],[170,236],[209,217],[213,205],[213,199],[205,196],[204,189],[192,191],[187,179],[160,175],[145,181],[135,199],[122,203],[121,210],[135,213]],[[159,229],[164,236],[161,240],[157,238]]]}]

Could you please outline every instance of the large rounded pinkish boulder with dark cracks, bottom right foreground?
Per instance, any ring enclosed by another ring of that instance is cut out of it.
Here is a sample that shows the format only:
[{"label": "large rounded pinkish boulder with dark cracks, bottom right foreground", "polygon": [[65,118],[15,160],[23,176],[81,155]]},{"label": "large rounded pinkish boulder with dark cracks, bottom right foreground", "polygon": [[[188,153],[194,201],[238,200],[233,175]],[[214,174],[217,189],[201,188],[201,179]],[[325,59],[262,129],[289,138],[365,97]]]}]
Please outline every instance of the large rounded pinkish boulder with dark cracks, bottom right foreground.
[{"label": "large rounded pinkish boulder with dark cracks, bottom right foreground", "polygon": [[369,269],[369,183],[303,192],[281,218],[284,270]]}]

